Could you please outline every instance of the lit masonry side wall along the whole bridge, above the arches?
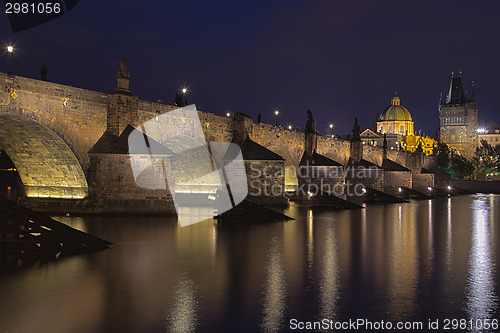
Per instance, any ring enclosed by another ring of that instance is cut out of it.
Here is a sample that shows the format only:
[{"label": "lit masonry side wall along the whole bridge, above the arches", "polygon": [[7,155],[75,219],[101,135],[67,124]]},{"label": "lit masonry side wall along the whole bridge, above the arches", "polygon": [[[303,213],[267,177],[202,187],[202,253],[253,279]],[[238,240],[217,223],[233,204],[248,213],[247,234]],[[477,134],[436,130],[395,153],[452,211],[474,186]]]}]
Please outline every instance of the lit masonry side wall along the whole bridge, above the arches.
[{"label": "lit masonry side wall along the whole bridge, above the arches", "polygon": [[[0,96],[0,112],[16,113],[34,119],[56,132],[74,151],[81,162],[84,171],[88,170],[89,157],[87,152],[106,129],[109,96],[101,92],[70,87],[66,85],[39,81],[24,77],[11,80],[6,74],[0,73],[0,83],[4,88],[17,87],[18,97],[14,100],[2,90]],[[120,118],[120,127],[126,123],[138,126],[158,115],[176,109],[175,106],[161,103],[137,100],[128,96],[125,115]],[[64,101],[68,106],[64,106]],[[111,105],[113,101],[111,101]],[[133,109],[137,108],[137,111]],[[207,112],[198,112],[207,142],[231,141],[232,118]],[[305,121],[305,119],[304,119]],[[304,133],[298,130],[288,130],[270,124],[253,123],[250,131],[251,139],[264,147],[276,145],[289,154],[295,166],[304,151]],[[156,138],[155,138],[156,139]],[[364,147],[364,158],[380,165],[382,150],[378,147]],[[328,156],[339,163],[346,164],[349,159],[349,142],[328,136],[318,136],[318,153]],[[394,155],[394,157],[392,156]],[[404,166],[407,165],[407,153],[389,151],[389,158]]]}]

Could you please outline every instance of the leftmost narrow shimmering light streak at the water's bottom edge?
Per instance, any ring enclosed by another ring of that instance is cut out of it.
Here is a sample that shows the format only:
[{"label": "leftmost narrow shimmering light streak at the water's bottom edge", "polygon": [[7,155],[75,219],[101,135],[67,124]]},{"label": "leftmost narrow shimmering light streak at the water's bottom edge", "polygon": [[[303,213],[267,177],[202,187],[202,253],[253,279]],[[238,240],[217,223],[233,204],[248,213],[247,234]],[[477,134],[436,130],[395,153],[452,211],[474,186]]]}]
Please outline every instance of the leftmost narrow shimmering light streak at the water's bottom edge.
[{"label": "leftmost narrow shimmering light streak at the water's bottom edge", "polygon": [[175,288],[174,304],[167,314],[167,332],[190,333],[198,325],[196,285],[187,277],[181,277]]}]

